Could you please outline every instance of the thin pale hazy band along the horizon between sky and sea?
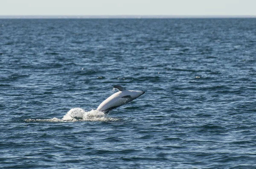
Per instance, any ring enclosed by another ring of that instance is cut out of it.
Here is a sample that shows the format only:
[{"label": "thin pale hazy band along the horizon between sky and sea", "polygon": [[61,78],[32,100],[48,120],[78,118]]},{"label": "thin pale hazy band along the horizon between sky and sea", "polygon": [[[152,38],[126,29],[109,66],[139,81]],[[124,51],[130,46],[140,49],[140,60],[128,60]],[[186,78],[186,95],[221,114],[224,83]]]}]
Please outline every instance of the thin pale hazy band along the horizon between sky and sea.
[{"label": "thin pale hazy band along the horizon between sky and sea", "polygon": [[0,15],[0,19],[256,18],[256,15]]}]

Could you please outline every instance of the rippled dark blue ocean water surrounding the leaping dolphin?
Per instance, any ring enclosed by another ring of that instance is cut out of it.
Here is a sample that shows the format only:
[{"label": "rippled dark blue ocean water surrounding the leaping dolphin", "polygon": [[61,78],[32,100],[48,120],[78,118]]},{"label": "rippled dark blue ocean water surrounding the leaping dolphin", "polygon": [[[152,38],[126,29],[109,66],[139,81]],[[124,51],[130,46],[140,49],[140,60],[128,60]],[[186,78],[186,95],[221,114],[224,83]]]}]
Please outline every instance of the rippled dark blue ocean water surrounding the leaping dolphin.
[{"label": "rippled dark blue ocean water surrounding the leaping dolphin", "polygon": [[256,168],[256,19],[2,19],[0,115],[0,168]]}]

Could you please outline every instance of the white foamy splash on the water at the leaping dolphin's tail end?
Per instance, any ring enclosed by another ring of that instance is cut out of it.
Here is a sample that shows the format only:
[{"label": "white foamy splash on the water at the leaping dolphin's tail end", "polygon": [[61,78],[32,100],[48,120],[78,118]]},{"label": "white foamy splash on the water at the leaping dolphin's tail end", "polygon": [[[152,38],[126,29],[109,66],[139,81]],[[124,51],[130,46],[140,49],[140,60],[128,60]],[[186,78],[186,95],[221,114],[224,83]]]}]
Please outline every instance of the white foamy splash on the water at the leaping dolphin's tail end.
[{"label": "white foamy splash on the water at the leaping dolphin's tail end", "polygon": [[26,122],[76,122],[76,121],[102,121],[112,122],[119,121],[119,118],[111,118],[103,112],[97,110],[90,110],[86,112],[79,107],[70,109],[63,118],[49,118],[49,119],[25,119]]}]

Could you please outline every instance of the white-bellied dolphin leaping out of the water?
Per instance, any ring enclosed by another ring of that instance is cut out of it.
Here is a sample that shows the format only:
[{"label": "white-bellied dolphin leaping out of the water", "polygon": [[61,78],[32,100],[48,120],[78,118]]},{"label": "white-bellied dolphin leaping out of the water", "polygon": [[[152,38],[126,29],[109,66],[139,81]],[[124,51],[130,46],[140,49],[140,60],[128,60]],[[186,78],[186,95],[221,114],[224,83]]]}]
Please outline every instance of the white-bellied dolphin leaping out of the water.
[{"label": "white-bellied dolphin leaping out of the water", "polygon": [[119,92],[109,96],[108,99],[99,104],[96,110],[107,114],[110,110],[133,101],[145,93],[143,91],[127,90],[121,86],[114,86],[113,88],[118,89]]}]

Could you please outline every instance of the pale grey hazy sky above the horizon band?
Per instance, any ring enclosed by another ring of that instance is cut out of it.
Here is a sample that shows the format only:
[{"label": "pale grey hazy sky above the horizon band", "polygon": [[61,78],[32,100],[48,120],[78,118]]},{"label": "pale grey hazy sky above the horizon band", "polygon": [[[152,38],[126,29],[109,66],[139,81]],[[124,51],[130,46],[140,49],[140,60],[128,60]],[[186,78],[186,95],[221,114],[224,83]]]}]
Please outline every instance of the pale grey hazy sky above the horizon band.
[{"label": "pale grey hazy sky above the horizon band", "polygon": [[0,15],[256,16],[256,0],[0,0]]}]

